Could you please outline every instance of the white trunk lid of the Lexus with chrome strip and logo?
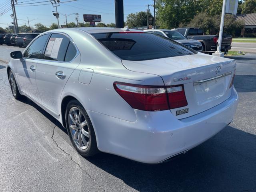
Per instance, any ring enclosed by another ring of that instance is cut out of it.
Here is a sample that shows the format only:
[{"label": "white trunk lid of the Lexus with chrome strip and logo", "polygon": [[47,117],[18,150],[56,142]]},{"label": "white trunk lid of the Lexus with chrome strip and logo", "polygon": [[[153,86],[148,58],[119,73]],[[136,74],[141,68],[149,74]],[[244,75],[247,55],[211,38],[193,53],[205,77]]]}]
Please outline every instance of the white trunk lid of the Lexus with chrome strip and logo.
[{"label": "white trunk lid of the Lexus with chrome strip and logo", "polygon": [[122,63],[128,70],[161,76],[165,86],[184,84],[188,105],[171,109],[178,119],[198,114],[228,99],[236,67],[235,60],[202,53],[144,61],[122,60]]}]

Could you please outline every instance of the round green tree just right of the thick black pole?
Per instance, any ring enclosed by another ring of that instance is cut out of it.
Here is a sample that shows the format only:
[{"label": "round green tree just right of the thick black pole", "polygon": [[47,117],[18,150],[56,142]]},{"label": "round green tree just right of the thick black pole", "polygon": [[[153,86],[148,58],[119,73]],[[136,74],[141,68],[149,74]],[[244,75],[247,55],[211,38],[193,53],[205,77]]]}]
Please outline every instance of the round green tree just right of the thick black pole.
[{"label": "round green tree just right of the thick black pole", "polygon": [[[149,13],[149,17],[152,17],[152,14]],[[147,26],[148,23],[148,14],[145,11],[137,12],[137,13],[130,13],[127,16],[126,24],[129,28],[134,27],[142,27]]]}]

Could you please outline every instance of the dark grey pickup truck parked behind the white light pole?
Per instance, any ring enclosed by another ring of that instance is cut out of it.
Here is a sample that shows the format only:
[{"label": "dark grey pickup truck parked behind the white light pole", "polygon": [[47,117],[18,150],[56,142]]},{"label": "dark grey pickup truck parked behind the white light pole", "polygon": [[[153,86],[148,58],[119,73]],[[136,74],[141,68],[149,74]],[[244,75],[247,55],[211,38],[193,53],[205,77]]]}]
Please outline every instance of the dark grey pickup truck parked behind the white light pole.
[{"label": "dark grey pickup truck parked behind the white light pole", "polygon": [[[217,50],[218,36],[217,35],[204,35],[200,28],[175,28],[172,29],[180,32],[188,39],[198,40],[202,43],[203,52],[212,54]],[[232,36],[222,36],[221,51],[228,52],[231,49]]]}]

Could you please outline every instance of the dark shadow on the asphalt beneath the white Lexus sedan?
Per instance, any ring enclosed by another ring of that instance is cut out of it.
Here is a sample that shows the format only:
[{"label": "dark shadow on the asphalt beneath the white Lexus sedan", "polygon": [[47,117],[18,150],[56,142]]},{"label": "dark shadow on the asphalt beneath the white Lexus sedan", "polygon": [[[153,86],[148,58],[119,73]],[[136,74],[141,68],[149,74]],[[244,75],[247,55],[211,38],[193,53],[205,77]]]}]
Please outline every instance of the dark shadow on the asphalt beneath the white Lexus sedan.
[{"label": "dark shadow on the asphalt beneath the white Lexus sedan", "polygon": [[[20,101],[36,108],[67,134],[55,118],[30,99]],[[233,192],[256,188],[256,136],[232,126],[186,154],[162,164],[142,164],[103,152],[85,159],[141,192]],[[86,188],[86,184],[82,184],[83,187]]]}]

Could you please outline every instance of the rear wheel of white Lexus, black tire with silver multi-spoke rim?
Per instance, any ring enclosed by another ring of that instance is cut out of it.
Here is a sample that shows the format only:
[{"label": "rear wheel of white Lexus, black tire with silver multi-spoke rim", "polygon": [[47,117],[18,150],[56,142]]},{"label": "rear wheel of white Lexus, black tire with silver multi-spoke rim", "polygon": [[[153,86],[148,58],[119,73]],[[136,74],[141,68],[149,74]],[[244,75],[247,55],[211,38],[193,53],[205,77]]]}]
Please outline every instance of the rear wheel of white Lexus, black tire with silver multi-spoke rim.
[{"label": "rear wheel of white Lexus, black tire with silver multi-spoke rim", "polygon": [[92,122],[80,102],[68,102],[65,120],[70,141],[80,155],[89,157],[99,152]]}]

